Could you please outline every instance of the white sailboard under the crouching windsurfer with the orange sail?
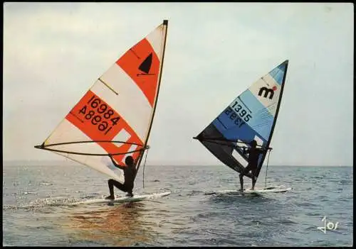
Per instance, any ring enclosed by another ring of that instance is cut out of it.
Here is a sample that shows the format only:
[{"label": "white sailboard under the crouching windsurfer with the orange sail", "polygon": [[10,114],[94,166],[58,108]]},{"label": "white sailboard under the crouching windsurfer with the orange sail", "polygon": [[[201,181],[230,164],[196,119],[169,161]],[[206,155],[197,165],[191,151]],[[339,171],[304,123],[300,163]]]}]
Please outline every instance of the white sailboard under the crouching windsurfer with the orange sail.
[{"label": "white sailboard under the crouching windsurfer with the orange sail", "polygon": [[145,199],[156,199],[159,197],[167,197],[167,195],[171,194],[171,192],[162,192],[162,193],[154,193],[154,194],[135,194],[133,197],[115,197],[115,200],[100,198],[100,199],[90,199],[86,201],[79,201],[72,203],[70,205],[78,205],[78,204],[118,204],[123,202],[134,202],[134,201],[142,201]]}]

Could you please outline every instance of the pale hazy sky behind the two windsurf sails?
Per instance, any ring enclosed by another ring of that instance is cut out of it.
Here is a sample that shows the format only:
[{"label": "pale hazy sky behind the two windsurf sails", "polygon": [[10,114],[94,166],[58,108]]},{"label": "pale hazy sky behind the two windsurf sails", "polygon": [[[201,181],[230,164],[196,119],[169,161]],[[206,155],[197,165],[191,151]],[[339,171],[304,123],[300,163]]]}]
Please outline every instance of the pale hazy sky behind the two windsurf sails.
[{"label": "pale hazy sky behind the two windsurf sails", "polygon": [[192,137],[284,60],[268,164],[353,165],[353,12],[347,3],[7,2],[3,160],[66,160],[33,146],[168,19],[147,165],[222,165]]}]

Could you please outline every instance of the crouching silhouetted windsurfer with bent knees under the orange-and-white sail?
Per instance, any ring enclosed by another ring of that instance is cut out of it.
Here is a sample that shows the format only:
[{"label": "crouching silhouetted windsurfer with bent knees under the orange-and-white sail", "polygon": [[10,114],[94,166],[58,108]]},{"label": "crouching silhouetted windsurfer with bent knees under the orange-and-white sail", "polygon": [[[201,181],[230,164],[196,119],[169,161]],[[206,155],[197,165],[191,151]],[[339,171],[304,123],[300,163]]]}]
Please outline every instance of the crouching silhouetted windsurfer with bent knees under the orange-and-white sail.
[{"label": "crouching silhouetted windsurfer with bent knees under the orange-and-white sail", "polygon": [[115,179],[109,179],[108,184],[109,184],[109,190],[110,190],[110,196],[105,197],[105,199],[115,199],[114,196],[114,186],[117,187],[117,189],[120,189],[122,192],[127,192],[126,196],[127,197],[133,197],[132,194],[132,189],[134,187],[134,180],[135,180],[135,165],[134,165],[134,160],[132,156],[128,156],[125,158],[125,166],[118,165],[115,160],[112,159],[112,156],[109,155],[109,157],[112,160],[112,163],[115,165],[115,167],[120,168],[121,170],[124,171],[124,176],[125,176],[125,182],[124,184],[121,184],[120,182],[117,182]]}]

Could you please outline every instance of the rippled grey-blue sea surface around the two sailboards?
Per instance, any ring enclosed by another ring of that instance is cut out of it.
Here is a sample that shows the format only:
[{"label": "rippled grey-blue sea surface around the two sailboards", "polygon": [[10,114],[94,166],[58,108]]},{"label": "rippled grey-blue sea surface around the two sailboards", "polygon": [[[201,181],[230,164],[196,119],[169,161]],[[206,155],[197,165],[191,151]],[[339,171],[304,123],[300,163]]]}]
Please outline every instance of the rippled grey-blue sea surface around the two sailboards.
[{"label": "rippled grey-blue sea surface around the two sailboards", "polygon": [[[256,187],[265,185],[264,170]],[[145,188],[142,172],[134,194],[172,193],[114,206],[70,206],[108,195],[108,178],[82,165],[4,165],[3,245],[353,245],[352,167],[268,166],[267,186],[292,190],[260,196],[204,194],[239,187],[239,175],[223,165],[146,166]],[[330,229],[324,233],[318,227],[325,223]]]}]

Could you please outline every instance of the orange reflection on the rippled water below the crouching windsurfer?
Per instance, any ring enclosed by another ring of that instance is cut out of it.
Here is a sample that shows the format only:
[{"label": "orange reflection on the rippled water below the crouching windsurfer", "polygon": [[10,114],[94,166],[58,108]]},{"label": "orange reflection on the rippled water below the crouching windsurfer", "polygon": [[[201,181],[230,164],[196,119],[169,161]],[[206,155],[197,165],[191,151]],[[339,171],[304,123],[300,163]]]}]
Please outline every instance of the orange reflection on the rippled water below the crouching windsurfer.
[{"label": "orange reflection on the rippled water below the crouching windsurfer", "polygon": [[[132,202],[115,206],[78,207],[68,215],[71,243],[95,242],[130,246],[150,243],[152,233],[142,222],[144,204]],[[74,212],[73,212],[74,211]]]}]

